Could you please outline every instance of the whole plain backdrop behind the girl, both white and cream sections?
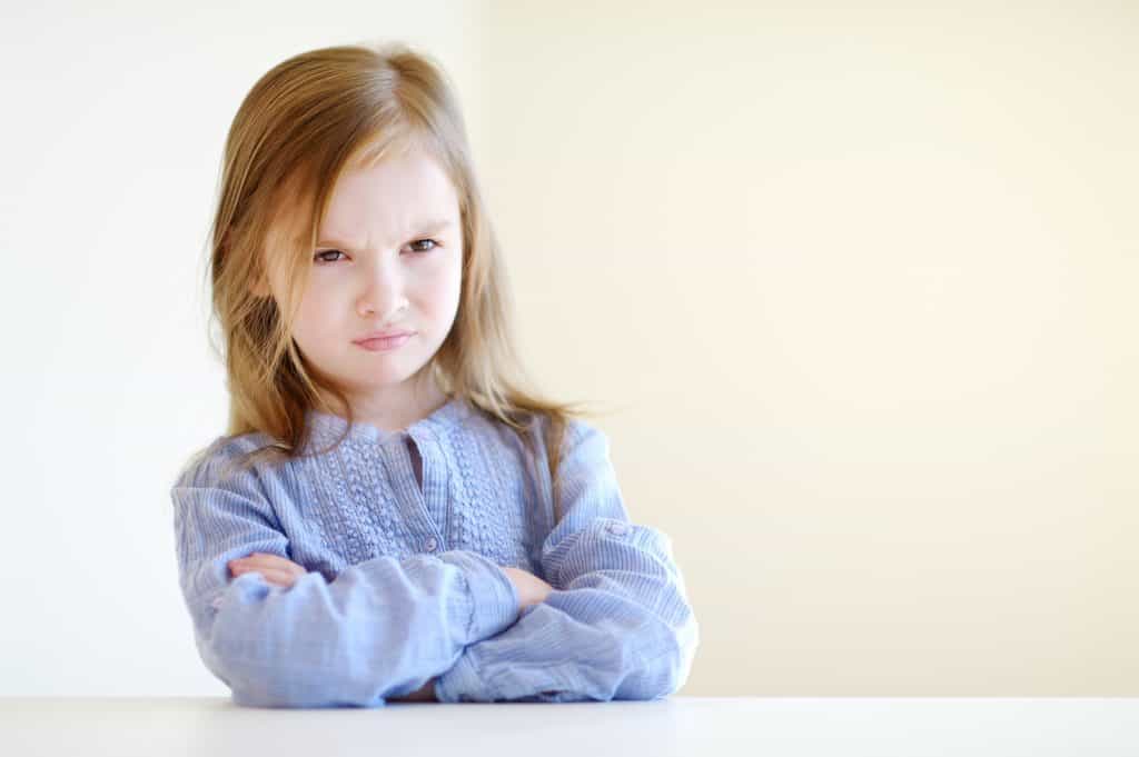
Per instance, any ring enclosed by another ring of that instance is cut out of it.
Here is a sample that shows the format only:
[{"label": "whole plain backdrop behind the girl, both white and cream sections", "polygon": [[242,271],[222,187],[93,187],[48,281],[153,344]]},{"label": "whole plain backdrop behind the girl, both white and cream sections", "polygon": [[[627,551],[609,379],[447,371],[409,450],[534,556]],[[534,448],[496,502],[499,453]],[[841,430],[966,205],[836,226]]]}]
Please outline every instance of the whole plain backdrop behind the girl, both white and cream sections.
[{"label": "whole plain backdrop behind the girl, both white and cream sections", "polygon": [[226,130],[394,39],[673,540],[680,693],[1139,694],[1139,7],[376,0],[6,6],[0,694],[228,692],[169,499],[227,418]]}]

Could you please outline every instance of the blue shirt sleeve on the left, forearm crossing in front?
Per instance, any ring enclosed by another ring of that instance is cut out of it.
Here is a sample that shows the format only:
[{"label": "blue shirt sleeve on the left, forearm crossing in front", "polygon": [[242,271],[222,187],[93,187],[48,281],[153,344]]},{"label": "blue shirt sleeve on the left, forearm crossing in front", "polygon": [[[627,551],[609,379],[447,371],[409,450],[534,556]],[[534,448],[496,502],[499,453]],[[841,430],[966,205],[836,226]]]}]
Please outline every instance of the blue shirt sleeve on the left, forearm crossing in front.
[{"label": "blue shirt sleeve on the left, forearm crossing in front", "polygon": [[[290,558],[261,477],[221,480],[231,455],[188,467],[171,489],[179,582],[206,667],[256,707],[379,707],[449,669],[464,647],[515,620],[519,598],[492,561],[468,551],[378,557],[329,582],[288,589],[260,573],[231,578],[253,552]],[[271,487],[270,487],[271,488]]]}]

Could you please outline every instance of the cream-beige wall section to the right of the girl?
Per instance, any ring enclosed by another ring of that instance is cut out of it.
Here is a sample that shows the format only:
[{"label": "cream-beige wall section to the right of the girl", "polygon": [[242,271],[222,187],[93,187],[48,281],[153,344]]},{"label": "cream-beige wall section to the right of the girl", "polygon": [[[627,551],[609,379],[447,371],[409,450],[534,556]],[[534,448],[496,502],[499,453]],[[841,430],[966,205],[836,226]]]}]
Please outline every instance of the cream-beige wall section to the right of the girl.
[{"label": "cream-beige wall section to the right of the girl", "polygon": [[1139,694],[1139,8],[940,5],[489,5],[523,345],[683,694]]}]

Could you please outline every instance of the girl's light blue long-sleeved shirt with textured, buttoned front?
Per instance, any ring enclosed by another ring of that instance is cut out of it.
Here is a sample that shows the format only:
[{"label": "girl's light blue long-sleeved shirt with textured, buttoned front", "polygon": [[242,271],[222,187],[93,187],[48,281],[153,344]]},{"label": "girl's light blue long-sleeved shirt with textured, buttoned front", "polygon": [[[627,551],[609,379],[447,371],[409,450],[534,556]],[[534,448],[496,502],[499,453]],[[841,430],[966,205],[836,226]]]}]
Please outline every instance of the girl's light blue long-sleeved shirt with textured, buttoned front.
[{"label": "girl's light blue long-sleeved shirt with textured, buttoned front", "polygon": [[[310,412],[311,450],[346,421]],[[435,678],[440,701],[658,699],[698,627],[669,537],[629,523],[606,435],[574,420],[562,519],[538,455],[453,398],[403,431],[355,423],[323,454],[244,472],[271,441],[220,437],[171,489],[179,582],[206,667],[238,705],[378,707]],[[279,554],[293,586],[229,560]],[[554,586],[519,612],[501,567]]]}]

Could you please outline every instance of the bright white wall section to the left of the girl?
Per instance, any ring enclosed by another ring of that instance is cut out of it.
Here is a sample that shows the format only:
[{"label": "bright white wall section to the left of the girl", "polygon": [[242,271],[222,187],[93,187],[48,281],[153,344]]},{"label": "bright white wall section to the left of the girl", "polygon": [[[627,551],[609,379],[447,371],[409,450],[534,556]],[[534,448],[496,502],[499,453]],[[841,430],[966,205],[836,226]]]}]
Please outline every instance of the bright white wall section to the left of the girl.
[{"label": "bright white wall section to the left of the girl", "polygon": [[6,6],[0,19],[0,696],[221,694],[179,595],[169,491],[227,420],[203,286],[226,131],[286,57],[402,39],[448,68],[481,151],[482,11],[105,5]]}]

